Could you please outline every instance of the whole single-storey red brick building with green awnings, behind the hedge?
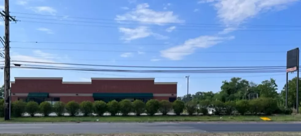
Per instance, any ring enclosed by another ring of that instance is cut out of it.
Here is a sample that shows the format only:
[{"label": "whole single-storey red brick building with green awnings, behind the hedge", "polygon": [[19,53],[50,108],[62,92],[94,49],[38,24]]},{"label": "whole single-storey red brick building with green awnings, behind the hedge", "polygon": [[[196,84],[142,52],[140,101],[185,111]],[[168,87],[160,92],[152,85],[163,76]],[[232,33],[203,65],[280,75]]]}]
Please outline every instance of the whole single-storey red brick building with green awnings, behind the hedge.
[{"label": "whole single-storey red brick building with green awnings, behind the hedge", "polygon": [[91,78],[91,82],[63,82],[61,77],[15,77],[11,82],[11,100],[143,100],[174,101],[177,82],[154,82],[154,78]]}]

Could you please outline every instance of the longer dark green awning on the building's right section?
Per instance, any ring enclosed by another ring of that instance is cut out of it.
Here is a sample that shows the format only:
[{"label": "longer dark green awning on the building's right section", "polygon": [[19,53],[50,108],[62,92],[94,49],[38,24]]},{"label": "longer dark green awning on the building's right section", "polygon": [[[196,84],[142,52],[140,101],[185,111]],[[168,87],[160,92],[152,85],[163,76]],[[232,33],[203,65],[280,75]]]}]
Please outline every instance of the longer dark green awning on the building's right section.
[{"label": "longer dark green awning on the building's right section", "polygon": [[153,97],[153,93],[93,93],[94,98],[145,98]]}]

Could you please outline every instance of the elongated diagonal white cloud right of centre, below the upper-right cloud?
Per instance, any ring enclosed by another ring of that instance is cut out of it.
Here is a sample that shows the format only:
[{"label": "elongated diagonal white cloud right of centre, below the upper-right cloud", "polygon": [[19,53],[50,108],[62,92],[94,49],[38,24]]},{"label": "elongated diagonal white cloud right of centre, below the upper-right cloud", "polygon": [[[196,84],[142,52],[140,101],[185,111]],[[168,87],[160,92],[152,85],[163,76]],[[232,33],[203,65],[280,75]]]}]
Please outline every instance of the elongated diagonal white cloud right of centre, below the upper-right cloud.
[{"label": "elongated diagonal white cloud right of centre, below the upper-right cloud", "polygon": [[171,60],[181,60],[184,56],[193,54],[197,48],[208,48],[231,39],[234,39],[234,36],[199,36],[194,39],[186,40],[182,45],[161,51],[161,56]]}]

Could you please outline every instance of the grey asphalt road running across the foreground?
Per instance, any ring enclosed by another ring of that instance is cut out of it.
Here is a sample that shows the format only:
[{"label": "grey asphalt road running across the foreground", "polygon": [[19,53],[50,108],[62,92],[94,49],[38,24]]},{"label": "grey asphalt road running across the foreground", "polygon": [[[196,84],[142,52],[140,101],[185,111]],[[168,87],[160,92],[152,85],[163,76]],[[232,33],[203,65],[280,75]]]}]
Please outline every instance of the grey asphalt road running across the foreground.
[{"label": "grey asphalt road running across the foreground", "polygon": [[97,134],[301,131],[301,123],[36,123],[0,124],[0,133]]}]

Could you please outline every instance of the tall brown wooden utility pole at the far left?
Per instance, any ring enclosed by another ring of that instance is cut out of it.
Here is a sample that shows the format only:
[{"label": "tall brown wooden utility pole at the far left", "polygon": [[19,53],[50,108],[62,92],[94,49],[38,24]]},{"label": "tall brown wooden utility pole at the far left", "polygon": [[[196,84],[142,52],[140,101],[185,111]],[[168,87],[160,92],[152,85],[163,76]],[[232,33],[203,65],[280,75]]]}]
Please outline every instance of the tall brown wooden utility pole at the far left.
[{"label": "tall brown wooden utility pole at the far left", "polygon": [[9,0],[4,1],[5,7],[5,64],[4,64],[4,120],[10,120],[10,10]]}]

